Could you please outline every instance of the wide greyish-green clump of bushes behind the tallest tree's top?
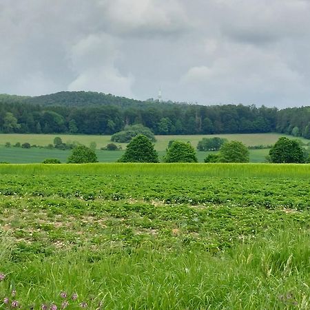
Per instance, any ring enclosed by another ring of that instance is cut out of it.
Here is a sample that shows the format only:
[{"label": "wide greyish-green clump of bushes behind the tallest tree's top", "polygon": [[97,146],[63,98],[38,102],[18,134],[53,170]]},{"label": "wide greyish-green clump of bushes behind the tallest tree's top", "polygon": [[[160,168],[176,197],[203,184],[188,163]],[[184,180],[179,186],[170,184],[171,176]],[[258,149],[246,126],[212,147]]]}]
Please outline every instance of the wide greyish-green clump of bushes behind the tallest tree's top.
[{"label": "wide greyish-green clump of bushes behind the tallest tree's top", "polygon": [[156,141],[153,132],[141,124],[125,126],[123,131],[116,132],[116,134],[112,135],[111,141],[129,143],[132,138],[134,136],[138,136],[138,134],[143,134],[143,136],[147,136],[147,138],[151,139],[152,141]]}]

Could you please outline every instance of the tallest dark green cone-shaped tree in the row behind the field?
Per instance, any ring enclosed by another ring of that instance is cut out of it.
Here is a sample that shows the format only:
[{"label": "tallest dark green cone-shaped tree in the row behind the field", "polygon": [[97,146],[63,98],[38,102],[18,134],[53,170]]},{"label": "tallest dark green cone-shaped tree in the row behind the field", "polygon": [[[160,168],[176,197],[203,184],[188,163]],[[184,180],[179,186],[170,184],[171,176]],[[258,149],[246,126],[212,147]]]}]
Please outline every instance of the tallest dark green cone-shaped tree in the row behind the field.
[{"label": "tallest dark green cone-shaped tree in the row behind the field", "polygon": [[127,145],[125,154],[118,160],[119,163],[158,163],[158,154],[152,141],[138,134]]}]

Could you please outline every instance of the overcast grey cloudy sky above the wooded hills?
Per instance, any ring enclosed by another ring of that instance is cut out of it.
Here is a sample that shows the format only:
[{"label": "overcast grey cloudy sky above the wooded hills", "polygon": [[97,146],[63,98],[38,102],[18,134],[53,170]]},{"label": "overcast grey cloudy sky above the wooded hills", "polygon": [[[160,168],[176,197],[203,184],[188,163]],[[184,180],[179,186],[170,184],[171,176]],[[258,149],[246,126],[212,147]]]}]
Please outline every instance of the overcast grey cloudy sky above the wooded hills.
[{"label": "overcast grey cloudy sky above the wooded hills", "polygon": [[310,0],[0,0],[0,93],[310,105]]}]

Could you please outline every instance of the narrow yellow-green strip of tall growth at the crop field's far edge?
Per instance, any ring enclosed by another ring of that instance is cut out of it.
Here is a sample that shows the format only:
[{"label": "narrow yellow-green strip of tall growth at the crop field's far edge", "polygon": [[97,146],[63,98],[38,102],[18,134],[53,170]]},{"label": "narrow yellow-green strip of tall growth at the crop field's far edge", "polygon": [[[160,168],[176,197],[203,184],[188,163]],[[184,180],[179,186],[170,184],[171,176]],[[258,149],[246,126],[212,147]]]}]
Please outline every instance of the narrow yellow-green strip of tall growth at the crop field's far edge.
[{"label": "narrow yellow-green strip of tall growth at the crop field's far edge", "polygon": [[309,164],[236,163],[93,163],[93,164],[1,164],[0,174],[23,175],[150,175],[310,178]]}]

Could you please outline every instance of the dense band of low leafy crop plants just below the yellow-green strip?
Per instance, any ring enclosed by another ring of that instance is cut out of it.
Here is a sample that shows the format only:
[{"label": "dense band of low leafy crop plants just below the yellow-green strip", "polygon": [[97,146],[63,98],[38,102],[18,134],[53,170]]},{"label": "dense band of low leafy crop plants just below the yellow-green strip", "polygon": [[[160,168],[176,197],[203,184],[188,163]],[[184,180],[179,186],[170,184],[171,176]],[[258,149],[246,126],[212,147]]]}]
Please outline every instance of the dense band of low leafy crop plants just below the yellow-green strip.
[{"label": "dense band of low leafy crop plants just below the yellow-green strip", "polygon": [[[12,176],[3,174],[3,196],[82,200],[156,200],[165,204],[224,204],[309,209],[309,179],[207,176]],[[285,192],[285,195],[283,194]]]}]

